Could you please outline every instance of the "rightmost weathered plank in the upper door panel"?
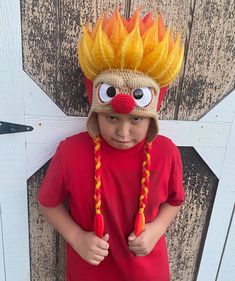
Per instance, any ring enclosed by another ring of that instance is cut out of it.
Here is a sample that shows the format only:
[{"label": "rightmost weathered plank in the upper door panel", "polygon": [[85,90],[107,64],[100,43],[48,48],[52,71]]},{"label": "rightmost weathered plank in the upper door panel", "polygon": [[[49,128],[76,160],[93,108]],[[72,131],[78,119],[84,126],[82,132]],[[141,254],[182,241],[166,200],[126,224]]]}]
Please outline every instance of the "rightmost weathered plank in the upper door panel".
[{"label": "rightmost weathered plank in the upper door panel", "polygon": [[234,88],[234,1],[196,1],[177,119],[196,120]]}]

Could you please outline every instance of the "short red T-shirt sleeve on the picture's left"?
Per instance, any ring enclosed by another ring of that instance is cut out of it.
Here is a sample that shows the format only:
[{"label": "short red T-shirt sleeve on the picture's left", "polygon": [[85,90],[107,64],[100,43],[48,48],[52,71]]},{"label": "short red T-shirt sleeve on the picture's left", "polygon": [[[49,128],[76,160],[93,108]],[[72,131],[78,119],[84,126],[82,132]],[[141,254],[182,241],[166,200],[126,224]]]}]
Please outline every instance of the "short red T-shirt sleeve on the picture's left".
[{"label": "short red T-shirt sleeve on the picture's left", "polygon": [[56,207],[64,202],[67,197],[62,159],[62,143],[63,141],[58,145],[39,189],[38,201],[45,207]]}]

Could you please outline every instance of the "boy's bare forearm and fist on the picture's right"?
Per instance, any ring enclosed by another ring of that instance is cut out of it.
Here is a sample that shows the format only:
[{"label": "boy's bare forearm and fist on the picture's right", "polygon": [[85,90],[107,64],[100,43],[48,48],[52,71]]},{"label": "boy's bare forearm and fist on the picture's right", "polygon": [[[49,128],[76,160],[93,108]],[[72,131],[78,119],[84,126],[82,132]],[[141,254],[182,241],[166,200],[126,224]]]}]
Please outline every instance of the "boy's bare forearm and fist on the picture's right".
[{"label": "boy's bare forearm and fist on the picture's right", "polygon": [[150,223],[145,224],[145,229],[138,237],[132,232],[128,237],[128,245],[130,251],[137,256],[148,255],[160,237],[166,232],[168,226],[178,214],[180,206],[172,206],[163,203],[157,217]]}]

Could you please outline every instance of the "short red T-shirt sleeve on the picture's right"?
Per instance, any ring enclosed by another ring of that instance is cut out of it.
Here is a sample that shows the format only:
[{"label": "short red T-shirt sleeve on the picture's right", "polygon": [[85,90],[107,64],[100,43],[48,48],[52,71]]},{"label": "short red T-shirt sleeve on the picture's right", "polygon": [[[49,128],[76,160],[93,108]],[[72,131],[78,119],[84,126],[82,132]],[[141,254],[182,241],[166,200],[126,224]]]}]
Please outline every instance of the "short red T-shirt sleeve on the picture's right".
[{"label": "short red T-shirt sleeve on the picture's right", "polygon": [[167,203],[173,206],[179,206],[185,199],[183,185],[183,168],[179,149],[175,147],[175,153],[172,159],[170,177],[168,183]]}]

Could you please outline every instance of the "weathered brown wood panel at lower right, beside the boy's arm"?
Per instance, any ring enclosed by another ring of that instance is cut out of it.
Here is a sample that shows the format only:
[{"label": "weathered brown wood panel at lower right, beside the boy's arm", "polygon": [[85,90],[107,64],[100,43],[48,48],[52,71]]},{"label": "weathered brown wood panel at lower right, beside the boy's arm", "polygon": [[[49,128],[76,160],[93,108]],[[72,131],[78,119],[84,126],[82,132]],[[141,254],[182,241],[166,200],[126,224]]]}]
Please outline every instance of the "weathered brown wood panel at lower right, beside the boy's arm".
[{"label": "weathered brown wood panel at lower right, beside the boy's arm", "polygon": [[169,227],[171,281],[196,280],[218,179],[193,148],[180,148],[186,200]]}]

